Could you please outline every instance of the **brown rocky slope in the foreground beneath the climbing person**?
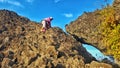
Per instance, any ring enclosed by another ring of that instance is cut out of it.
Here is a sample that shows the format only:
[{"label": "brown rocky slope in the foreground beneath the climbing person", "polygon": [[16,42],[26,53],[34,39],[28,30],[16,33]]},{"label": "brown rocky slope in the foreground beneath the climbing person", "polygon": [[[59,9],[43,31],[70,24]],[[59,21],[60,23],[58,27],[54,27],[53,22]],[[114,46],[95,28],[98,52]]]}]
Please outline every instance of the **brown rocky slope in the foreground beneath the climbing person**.
[{"label": "brown rocky slope in the foreground beneath the climbing person", "polygon": [[112,68],[93,61],[81,43],[60,28],[42,33],[41,26],[0,10],[0,68]]}]

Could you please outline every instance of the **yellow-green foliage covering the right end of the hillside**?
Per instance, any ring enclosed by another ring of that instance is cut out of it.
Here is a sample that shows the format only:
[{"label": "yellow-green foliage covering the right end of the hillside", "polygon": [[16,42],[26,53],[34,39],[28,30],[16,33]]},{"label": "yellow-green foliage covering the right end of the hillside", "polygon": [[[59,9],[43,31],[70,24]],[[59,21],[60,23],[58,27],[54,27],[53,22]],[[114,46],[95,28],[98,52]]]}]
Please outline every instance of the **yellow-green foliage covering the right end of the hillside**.
[{"label": "yellow-green foliage covering the right end of the hillside", "polygon": [[120,20],[112,6],[107,6],[100,11],[102,23],[100,32],[103,36],[103,43],[106,46],[106,53],[113,55],[120,61]]}]

